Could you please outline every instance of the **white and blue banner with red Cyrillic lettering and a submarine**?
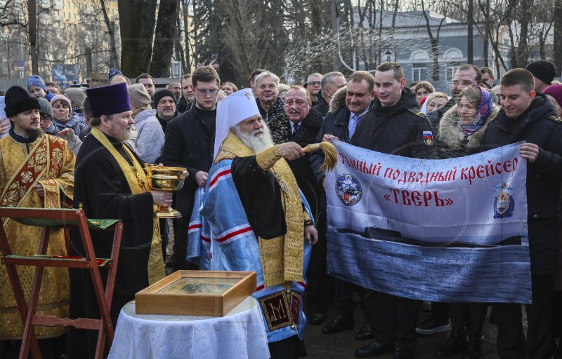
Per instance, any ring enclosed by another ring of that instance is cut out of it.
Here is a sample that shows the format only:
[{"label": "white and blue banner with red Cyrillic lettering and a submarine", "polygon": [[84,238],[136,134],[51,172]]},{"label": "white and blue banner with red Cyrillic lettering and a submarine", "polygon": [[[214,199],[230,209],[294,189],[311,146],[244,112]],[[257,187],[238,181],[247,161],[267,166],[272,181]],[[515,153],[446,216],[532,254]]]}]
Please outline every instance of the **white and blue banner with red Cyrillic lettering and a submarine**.
[{"label": "white and blue banner with red Cyrillic lettering and a submarine", "polygon": [[519,144],[446,160],[334,146],[339,161],[326,186],[333,276],[414,299],[528,303]]}]

